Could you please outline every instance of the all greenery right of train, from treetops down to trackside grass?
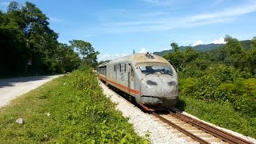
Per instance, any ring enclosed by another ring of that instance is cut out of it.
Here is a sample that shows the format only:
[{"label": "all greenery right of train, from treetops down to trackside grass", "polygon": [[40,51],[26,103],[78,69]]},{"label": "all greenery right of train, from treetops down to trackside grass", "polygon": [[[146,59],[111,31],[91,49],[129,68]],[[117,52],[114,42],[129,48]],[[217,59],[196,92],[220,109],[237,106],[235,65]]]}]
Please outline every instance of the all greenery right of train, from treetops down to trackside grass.
[{"label": "all greenery right of train, from treetops down to trackside grass", "polygon": [[256,138],[256,38],[246,45],[229,35],[225,41],[222,48],[205,52],[171,44],[174,52],[164,57],[178,70],[178,107]]}]

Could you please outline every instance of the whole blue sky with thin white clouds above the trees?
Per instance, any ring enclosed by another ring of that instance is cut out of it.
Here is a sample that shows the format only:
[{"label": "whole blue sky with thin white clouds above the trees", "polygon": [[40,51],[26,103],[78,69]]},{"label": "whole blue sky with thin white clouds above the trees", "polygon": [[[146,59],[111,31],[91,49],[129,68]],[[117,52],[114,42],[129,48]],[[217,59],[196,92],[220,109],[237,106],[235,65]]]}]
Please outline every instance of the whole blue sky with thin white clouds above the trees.
[{"label": "whole blue sky with thin white clouds above the trees", "polygon": [[[0,1],[6,11],[9,0]],[[17,0],[24,4],[26,1]],[[255,0],[30,0],[48,18],[58,41],[90,42],[98,61],[140,51],[223,43],[256,36]]]}]

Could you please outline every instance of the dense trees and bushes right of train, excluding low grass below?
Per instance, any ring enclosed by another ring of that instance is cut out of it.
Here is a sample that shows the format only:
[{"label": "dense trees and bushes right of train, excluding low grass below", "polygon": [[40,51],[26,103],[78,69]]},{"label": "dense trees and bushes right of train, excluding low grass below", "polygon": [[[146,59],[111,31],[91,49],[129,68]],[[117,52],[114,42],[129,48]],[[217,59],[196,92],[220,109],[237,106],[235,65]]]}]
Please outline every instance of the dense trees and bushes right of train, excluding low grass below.
[{"label": "dense trees and bushes right of train, excluding low grass below", "polygon": [[226,36],[226,45],[199,52],[187,46],[164,56],[178,70],[180,92],[205,102],[229,102],[243,115],[256,117],[256,37],[250,49],[236,38]]}]

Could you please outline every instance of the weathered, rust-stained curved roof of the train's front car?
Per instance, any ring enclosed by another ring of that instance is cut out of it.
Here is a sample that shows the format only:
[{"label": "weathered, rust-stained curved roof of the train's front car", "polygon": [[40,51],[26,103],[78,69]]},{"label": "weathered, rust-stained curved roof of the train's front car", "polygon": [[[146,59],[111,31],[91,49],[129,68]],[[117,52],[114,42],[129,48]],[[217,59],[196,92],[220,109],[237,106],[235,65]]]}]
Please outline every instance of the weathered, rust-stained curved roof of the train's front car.
[{"label": "weathered, rust-stained curved roof of the train's front car", "polygon": [[130,61],[134,63],[144,63],[144,62],[161,62],[166,63],[170,65],[170,62],[168,62],[165,58],[162,58],[155,54],[130,54],[122,58],[115,59],[113,61],[110,61],[109,63],[116,63],[116,62],[123,62],[123,61]]}]

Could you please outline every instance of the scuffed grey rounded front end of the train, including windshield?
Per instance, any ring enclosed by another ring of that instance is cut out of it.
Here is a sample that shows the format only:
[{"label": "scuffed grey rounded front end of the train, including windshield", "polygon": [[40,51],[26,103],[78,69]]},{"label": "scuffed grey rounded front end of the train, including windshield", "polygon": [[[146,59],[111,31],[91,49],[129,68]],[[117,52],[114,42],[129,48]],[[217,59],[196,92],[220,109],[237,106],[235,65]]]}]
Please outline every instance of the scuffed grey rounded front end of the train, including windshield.
[{"label": "scuffed grey rounded front end of the train, including windshield", "polygon": [[170,63],[138,64],[141,72],[141,103],[150,110],[172,110],[178,102],[178,76]]}]

